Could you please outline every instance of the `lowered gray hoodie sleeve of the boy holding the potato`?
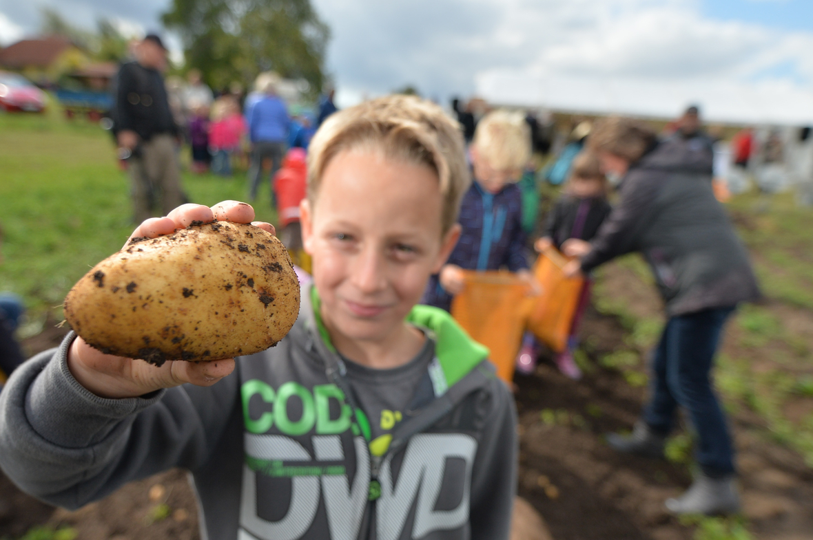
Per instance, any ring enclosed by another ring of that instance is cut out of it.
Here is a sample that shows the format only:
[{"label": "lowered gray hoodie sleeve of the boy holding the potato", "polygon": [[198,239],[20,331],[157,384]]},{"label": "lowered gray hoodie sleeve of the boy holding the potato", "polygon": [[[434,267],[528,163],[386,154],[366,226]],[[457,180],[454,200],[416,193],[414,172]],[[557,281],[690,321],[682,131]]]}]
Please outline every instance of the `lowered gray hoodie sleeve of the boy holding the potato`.
[{"label": "lowered gray hoodie sleeve of the boy holding the potato", "polygon": [[472,540],[507,540],[517,474],[516,410],[505,383],[491,382],[492,409],[472,469]]}]

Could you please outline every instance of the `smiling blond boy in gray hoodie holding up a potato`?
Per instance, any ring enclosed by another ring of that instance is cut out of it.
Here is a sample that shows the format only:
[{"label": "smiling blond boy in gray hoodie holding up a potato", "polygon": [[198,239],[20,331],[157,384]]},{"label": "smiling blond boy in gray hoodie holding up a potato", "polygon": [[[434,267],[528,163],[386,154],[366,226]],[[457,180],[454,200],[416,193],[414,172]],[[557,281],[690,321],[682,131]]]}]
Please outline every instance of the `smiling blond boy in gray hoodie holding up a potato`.
[{"label": "smiling blond boy in gray hoodie holding up a potato", "polygon": [[[250,357],[161,368],[69,335],[0,394],[8,476],[77,508],[185,467],[213,540],[508,538],[511,398],[483,348],[415,306],[459,235],[458,127],[428,102],[385,97],[333,114],[309,159],[314,287],[289,335]],[[253,217],[234,201],[184,205],[133,234]]]}]

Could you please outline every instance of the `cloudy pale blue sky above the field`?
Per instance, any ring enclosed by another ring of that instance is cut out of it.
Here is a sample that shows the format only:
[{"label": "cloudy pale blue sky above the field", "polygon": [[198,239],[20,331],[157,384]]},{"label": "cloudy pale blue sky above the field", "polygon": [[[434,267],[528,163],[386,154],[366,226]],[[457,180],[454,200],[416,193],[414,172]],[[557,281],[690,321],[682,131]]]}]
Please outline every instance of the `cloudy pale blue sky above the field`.
[{"label": "cloudy pale blue sky above the field", "polygon": [[[331,28],[340,105],[425,97],[707,119],[813,123],[811,0],[311,0]],[[41,6],[90,27],[160,29],[169,0],[0,0],[0,44]],[[170,40],[180,58],[180,43]]]}]

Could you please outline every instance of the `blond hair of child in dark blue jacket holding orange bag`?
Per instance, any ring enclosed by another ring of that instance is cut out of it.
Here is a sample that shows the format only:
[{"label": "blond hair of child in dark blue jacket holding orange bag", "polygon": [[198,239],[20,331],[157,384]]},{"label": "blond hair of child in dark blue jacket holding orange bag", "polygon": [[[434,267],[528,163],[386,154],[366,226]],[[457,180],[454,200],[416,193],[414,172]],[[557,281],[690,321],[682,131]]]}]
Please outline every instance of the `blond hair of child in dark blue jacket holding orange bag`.
[{"label": "blond hair of child in dark blue jacket holding orange bag", "polygon": [[474,147],[492,169],[516,171],[531,158],[531,132],[520,112],[494,110],[477,123]]}]

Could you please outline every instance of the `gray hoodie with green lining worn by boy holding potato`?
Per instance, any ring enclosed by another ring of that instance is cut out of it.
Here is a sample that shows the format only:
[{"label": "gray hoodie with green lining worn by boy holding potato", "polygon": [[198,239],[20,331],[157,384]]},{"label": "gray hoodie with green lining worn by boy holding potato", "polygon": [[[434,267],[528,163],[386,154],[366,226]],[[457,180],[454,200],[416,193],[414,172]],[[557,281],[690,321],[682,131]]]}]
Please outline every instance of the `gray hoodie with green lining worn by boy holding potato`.
[{"label": "gray hoodie with green lining worn by boy holding potato", "polygon": [[[346,366],[303,291],[293,330],[213,387],[106,400],[58,349],[0,394],[0,467],[79,508],[138,478],[189,469],[202,538],[508,538],[516,477],[511,395],[448,313],[415,306],[435,355],[403,418],[370,444]],[[318,298],[315,298],[318,301]]]}]

